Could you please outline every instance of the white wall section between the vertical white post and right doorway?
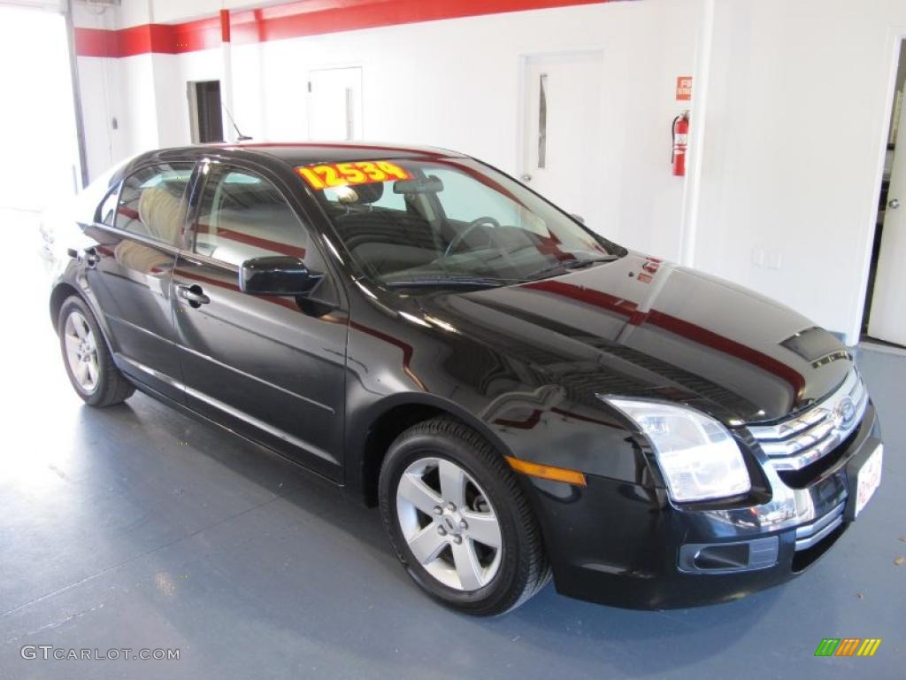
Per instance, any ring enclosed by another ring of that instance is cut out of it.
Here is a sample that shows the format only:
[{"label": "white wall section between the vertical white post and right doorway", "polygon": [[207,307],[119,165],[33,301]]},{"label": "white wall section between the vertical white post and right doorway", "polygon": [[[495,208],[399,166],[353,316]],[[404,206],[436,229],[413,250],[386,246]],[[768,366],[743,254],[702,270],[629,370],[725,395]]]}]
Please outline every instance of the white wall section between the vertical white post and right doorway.
[{"label": "white wall section between the vertical white post and right doorway", "polygon": [[[893,0],[718,0],[694,266],[858,340],[898,33]],[[757,267],[753,251],[779,255]]]}]

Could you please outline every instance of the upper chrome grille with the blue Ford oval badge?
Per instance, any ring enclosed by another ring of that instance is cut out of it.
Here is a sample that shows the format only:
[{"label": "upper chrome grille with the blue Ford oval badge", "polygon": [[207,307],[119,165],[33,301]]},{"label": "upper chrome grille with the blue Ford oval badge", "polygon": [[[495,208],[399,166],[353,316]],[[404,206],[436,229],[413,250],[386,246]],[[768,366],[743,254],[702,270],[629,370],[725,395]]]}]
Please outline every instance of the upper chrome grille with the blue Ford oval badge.
[{"label": "upper chrome grille with the blue Ford oval badge", "polygon": [[778,472],[802,470],[819,461],[859,425],[868,404],[862,378],[853,368],[822,403],[773,425],[750,425],[748,431]]}]

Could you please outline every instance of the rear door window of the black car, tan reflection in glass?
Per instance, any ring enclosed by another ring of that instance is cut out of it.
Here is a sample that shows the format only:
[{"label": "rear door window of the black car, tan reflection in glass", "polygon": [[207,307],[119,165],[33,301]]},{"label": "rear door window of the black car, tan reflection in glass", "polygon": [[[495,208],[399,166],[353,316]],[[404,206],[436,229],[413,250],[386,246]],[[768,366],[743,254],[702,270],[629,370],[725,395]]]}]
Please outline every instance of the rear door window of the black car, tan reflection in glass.
[{"label": "rear door window of the black car, tan reflection in glass", "polygon": [[126,178],[117,207],[117,228],[179,246],[188,208],[186,189],[193,167],[192,163],[162,163],[142,168]]}]

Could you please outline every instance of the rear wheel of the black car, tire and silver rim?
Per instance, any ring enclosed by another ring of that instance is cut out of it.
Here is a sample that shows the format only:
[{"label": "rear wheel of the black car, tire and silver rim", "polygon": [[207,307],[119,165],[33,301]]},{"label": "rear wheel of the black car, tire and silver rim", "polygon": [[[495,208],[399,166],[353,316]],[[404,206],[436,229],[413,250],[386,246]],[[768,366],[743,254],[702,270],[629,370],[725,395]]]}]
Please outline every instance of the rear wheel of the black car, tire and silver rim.
[{"label": "rear wheel of the black car, tire and silver rim", "polygon": [[63,302],[57,335],[69,382],[89,406],[122,403],[135,392],[135,386],[113,363],[101,328],[81,297],[70,296]]}]

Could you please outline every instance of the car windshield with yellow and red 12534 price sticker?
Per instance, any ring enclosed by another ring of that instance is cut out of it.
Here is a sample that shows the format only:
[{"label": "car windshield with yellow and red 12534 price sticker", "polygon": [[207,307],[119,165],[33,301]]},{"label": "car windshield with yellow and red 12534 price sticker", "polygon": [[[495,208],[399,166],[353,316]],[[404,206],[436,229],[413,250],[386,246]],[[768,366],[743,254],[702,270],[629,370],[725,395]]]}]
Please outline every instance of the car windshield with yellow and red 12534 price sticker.
[{"label": "car windshield with yellow and red 12534 price sticker", "polygon": [[297,170],[361,269],[386,287],[504,285],[625,253],[477,160]]}]

